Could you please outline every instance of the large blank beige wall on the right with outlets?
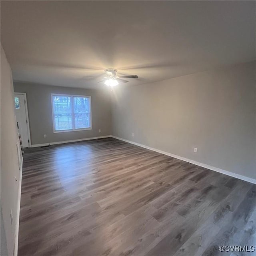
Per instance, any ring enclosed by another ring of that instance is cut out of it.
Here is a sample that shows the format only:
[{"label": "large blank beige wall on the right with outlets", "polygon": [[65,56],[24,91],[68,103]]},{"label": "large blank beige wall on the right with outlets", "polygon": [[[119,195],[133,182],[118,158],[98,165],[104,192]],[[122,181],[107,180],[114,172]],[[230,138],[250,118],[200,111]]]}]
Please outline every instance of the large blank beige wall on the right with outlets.
[{"label": "large blank beige wall on the right with outlets", "polygon": [[255,92],[254,62],[120,86],[113,135],[255,179]]}]

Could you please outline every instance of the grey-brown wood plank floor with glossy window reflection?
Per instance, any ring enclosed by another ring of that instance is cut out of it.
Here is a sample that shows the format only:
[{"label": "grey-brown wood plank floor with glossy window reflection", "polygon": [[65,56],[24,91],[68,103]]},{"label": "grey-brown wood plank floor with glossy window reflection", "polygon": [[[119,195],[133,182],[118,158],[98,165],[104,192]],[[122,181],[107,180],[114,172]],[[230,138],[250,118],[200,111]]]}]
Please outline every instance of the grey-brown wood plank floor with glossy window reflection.
[{"label": "grey-brown wood plank floor with glossy window reflection", "polygon": [[18,255],[255,255],[256,186],[106,138],[26,150]]}]

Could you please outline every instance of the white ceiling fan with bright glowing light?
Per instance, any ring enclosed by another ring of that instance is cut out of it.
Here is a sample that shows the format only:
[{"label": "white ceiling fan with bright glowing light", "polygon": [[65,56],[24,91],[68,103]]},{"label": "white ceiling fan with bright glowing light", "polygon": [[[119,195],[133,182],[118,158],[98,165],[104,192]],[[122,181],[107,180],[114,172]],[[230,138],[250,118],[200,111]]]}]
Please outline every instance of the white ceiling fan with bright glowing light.
[{"label": "white ceiling fan with bright glowing light", "polygon": [[[102,83],[104,82],[104,84],[106,84],[107,86],[110,87],[114,87],[116,85],[118,85],[118,82],[122,82],[122,83],[127,83],[129,82],[128,80],[124,80],[122,78],[138,78],[137,75],[130,75],[130,76],[117,76],[116,72],[117,70],[114,68],[107,68],[106,70],[104,70],[106,77],[104,77],[105,79],[98,82],[98,83]],[[93,77],[93,76],[83,76],[83,78],[89,78],[89,77]]]}]

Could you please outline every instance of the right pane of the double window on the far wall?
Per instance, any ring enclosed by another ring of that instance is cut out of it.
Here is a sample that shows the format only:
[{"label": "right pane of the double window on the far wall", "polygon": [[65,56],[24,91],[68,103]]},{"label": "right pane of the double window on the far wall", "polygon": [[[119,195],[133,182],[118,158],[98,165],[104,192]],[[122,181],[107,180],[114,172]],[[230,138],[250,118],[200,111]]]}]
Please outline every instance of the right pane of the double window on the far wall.
[{"label": "right pane of the double window on the far wall", "polygon": [[90,98],[74,97],[75,129],[90,128]]}]

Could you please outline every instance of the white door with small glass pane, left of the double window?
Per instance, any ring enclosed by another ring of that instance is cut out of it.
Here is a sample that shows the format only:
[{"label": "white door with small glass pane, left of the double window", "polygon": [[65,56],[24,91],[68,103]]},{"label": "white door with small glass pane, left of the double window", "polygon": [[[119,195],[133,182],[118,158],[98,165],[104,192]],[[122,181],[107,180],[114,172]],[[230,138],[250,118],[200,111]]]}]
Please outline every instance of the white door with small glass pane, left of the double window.
[{"label": "white door with small glass pane, left of the double window", "polygon": [[18,122],[19,134],[22,139],[22,146],[29,147],[29,131],[28,131],[28,116],[26,111],[26,101],[24,94],[14,93],[14,106],[16,121]]}]

